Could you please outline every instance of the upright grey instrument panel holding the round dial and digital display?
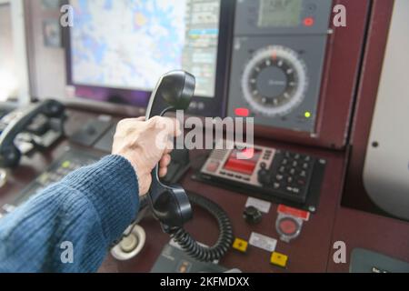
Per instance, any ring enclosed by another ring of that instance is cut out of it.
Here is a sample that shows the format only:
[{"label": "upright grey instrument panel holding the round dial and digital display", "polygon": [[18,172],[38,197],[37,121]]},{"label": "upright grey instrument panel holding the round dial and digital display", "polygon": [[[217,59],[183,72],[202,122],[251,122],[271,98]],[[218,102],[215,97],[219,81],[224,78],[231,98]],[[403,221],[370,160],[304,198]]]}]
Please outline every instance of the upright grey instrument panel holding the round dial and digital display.
[{"label": "upright grey instrument panel holding the round dial and digital display", "polygon": [[314,134],[331,5],[237,1],[228,115]]}]

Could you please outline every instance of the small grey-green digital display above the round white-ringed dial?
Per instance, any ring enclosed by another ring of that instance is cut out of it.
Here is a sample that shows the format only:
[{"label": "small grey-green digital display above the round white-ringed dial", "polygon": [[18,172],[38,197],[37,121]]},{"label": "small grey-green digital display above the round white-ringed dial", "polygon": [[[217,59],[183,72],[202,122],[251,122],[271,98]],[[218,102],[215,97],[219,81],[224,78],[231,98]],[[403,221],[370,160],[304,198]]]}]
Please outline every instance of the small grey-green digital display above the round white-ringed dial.
[{"label": "small grey-green digital display above the round white-ringed dial", "polygon": [[301,23],[303,0],[261,0],[259,27],[295,27]]}]

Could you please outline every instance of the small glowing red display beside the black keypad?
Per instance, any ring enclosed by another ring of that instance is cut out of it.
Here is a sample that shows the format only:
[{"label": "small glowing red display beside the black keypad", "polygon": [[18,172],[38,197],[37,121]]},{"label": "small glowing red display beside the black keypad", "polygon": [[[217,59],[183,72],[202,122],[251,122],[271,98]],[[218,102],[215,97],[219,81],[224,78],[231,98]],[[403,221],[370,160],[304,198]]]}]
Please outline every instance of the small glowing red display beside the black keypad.
[{"label": "small glowing red display beside the black keypad", "polygon": [[[234,149],[224,165],[224,170],[245,175],[252,175],[255,166],[257,166],[257,162],[260,159],[261,153],[262,151],[259,149]],[[239,154],[246,156],[247,158],[239,158]]]}]

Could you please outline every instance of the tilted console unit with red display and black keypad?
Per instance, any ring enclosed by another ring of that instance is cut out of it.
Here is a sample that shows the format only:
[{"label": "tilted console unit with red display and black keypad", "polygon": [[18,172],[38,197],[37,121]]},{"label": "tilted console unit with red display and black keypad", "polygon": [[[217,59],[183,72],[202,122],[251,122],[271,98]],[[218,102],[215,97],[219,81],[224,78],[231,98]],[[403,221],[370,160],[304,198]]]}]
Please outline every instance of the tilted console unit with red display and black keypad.
[{"label": "tilted console unit with red display and black keypad", "polygon": [[[220,141],[215,148],[228,143]],[[234,149],[215,149],[199,178],[315,212],[325,160],[271,147],[235,143]]]}]

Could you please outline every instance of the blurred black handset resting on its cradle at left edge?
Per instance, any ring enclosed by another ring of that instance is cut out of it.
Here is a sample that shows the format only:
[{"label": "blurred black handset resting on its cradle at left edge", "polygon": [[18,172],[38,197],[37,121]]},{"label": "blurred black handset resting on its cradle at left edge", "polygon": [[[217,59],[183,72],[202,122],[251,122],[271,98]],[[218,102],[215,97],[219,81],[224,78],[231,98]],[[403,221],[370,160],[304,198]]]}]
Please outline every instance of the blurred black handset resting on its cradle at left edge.
[{"label": "blurred black handset resting on its cradle at left edge", "polygon": [[[19,113],[0,135],[0,167],[12,168],[18,166],[21,153],[15,146],[15,137],[24,132],[33,123],[38,115],[48,118],[63,118],[65,106],[55,100],[45,100],[39,104],[29,106]],[[61,122],[61,131],[64,131]]]}]

